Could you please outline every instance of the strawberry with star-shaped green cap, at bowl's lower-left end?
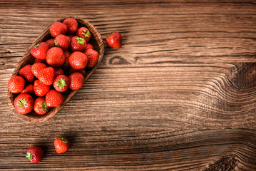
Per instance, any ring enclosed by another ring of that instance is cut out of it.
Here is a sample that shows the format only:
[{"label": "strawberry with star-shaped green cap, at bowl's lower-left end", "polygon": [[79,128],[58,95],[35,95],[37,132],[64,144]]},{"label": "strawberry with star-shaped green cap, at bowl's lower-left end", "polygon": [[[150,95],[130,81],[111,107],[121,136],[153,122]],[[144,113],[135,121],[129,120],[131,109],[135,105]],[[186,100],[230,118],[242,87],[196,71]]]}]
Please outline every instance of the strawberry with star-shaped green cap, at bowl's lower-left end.
[{"label": "strawberry with star-shaped green cap, at bowl's lower-left end", "polygon": [[29,94],[20,94],[14,99],[14,107],[21,114],[30,113],[34,106],[34,100]]}]

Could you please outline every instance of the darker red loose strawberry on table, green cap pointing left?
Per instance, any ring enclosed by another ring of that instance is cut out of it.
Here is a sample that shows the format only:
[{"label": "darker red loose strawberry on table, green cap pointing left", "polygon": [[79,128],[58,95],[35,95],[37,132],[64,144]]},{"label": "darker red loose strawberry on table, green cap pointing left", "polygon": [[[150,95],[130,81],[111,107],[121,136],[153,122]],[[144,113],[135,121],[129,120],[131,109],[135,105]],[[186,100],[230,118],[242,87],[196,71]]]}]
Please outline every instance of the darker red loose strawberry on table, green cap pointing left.
[{"label": "darker red loose strawberry on table, green cap pointing left", "polygon": [[43,158],[43,153],[40,147],[29,147],[28,152],[26,152],[26,157],[33,163],[39,163]]}]

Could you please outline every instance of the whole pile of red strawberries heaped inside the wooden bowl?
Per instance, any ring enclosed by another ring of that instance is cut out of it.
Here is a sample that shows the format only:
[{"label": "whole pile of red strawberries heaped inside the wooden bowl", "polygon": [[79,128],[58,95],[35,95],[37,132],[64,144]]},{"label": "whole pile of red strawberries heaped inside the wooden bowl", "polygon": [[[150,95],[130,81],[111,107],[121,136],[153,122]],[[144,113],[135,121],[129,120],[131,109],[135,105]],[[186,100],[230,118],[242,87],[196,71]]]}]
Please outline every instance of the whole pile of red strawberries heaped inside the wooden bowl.
[{"label": "whole pile of red strawberries heaped inside the wooden bowl", "polygon": [[9,91],[20,93],[14,106],[21,114],[34,110],[43,115],[50,107],[61,106],[63,93],[81,88],[85,69],[98,63],[98,52],[90,43],[91,33],[86,27],[78,28],[76,19],[56,21],[50,32],[51,38],[31,48],[34,63],[9,79]]}]

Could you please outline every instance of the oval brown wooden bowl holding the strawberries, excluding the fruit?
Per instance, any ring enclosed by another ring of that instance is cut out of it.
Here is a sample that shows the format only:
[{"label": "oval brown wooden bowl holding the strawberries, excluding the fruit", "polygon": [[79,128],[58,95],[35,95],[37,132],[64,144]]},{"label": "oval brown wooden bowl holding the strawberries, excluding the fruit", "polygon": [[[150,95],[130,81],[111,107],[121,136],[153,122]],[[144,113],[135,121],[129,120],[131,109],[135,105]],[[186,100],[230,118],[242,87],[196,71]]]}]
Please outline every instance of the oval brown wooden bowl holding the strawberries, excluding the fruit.
[{"label": "oval brown wooden bowl holding the strawberries, excluding the fruit", "polygon": [[[90,43],[93,45],[93,48],[96,51],[98,51],[99,58],[98,58],[97,65],[91,69],[86,69],[86,76],[84,79],[84,81],[86,81],[94,73],[94,71],[96,71],[96,69],[100,65],[101,60],[103,58],[104,45],[103,45],[103,40],[101,38],[101,34],[96,30],[96,28],[92,24],[90,24],[88,21],[86,21],[84,19],[80,19],[80,18],[74,18],[74,19],[76,19],[76,21],[78,21],[78,27],[85,26],[86,28],[88,28],[89,31],[91,31]],[[63,22],[64,20],[65,19],[60,19],[58,21]],[[34,43],[32,43],[32,45],[26,51],[26,53],[24,53],[24,56],[21,58],[21,60],[17,64],[16,68],[14,69],[14,73],[12,74],[12,76],[16,76],[19,73],[19,70],[22,67],[26,66],[26,64],[34,63],[35,58],[34,58],[34,56],[31,56],[31,53],[30,53],[31,48],[33,46],[35,46],[36,44],[40,43],[41,41],[46,41],[48,38],[50,38],[50,36],[51,36],[51,34],[49,32],[50,26],[48,26],[48,28],[46,28],[38,38],[36,38],[36,41],[34,41]],[[50,108],[48,113],[46,113],[44,115],[38,115],[37,113],[34,112],[34,110],[31,113],[28,113],[26,115],[18,113],[17,110],[14,108],[14,99],[19,94],[14,94],[14,93],[11,93],[10,91],[8,91],[7,100],[8,100],[8,105],[10,106],[12,112],[14,113],[14,115],[16,115],[16,117],[20,118],[21,120],[24,120],[27,123],[41,123],[41,122],[44,122],[44,121],[48,120],[49,118],[53,117],[54,115],[56,115],[56,113],[58,113],[58,111],[61,110],[61,108],[63,108],[63,106],[66,105],[66,103],[68,103],[68,100],[70,100],[71,97],[77,91],[78,90],[68,90],[66,93],[63,93],[63,96],[65,98],[63,104],[58,108]]]}]

